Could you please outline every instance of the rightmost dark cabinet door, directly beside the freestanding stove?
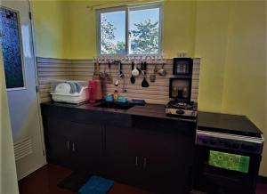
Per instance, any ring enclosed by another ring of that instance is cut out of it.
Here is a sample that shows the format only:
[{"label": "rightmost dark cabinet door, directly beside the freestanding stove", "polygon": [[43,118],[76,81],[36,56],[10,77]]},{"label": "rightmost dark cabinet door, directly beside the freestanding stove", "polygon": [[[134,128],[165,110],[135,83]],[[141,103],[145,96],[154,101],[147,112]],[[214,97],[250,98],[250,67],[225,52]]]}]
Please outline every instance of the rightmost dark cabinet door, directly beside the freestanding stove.
[{"label": "rightmost dark cabinet door, directly beside the freestanding stove", "polygon": [[193,136],[136,130],[135,150],[142,152],[142,188],[157,193],[188,193]]}]

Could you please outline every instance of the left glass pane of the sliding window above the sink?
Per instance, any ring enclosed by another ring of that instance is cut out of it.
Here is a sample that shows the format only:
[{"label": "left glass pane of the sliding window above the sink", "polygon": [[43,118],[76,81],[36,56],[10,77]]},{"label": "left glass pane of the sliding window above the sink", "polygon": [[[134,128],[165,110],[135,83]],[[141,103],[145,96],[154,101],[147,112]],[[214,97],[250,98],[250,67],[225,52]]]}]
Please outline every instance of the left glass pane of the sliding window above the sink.
[{"label": "left glass pane of the sliding window above the sink", "polygon": [[101,13],[101,54],[125,54],[125,11]]}]

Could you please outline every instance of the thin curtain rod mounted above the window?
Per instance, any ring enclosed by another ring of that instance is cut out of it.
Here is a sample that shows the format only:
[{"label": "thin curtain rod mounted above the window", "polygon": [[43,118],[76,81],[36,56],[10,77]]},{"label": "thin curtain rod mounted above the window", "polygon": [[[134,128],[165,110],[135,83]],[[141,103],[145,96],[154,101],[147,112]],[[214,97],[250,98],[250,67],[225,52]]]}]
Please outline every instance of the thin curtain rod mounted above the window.
[{"label": "thin curtain rod mounted above the window", "polygon": [[111,7],[112,5],[115,5],[114,7],[119,7],[119,6],[129,6],[129,5],[140,5],[140,4],[158,4],[158,3],[162,3],[164,2],[164,0],[156,0],[156,1],[142,1],[142,0],[138,0],[138,1],[124,1],[124,2],[120,2],[120,3],[108,3],[108,4],[96,4],[96,5],[87,5],[86,8],[87,9],[91,9],[93,10],[98,10],[101,8],[107,8],[107,7]]}]

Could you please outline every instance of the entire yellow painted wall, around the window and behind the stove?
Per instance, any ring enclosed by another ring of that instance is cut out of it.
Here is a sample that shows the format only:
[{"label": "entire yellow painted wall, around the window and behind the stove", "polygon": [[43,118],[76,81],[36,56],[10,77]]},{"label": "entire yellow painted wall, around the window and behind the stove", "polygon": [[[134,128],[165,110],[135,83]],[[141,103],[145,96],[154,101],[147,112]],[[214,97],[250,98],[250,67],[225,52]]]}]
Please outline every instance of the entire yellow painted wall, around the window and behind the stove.
[{"label": "entire yellow painted wall, around the window and behind the stove", "polygon": [[[34,3],[37,56],[96,56],[95,15],[86,6],[105,2]],[[267,134],[266,3],[166,0],[163,12],[164,55],[201,58],[199,109],[247,115]]]}]

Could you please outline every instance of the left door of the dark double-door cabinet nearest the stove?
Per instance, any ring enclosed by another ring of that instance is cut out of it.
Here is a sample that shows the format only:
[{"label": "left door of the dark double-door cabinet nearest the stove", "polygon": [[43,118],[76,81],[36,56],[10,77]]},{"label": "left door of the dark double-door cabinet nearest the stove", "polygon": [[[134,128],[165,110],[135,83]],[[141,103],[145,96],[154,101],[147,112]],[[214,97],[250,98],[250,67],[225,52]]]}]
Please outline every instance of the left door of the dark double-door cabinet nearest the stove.
[{"label": "left door of the dark double-door cabinet nearest the stove", "polygon": [[140,156],[131,148],[132,135],[133,130],[128,127],[106,127],[107,176],[117,182],[139,186]]}]

